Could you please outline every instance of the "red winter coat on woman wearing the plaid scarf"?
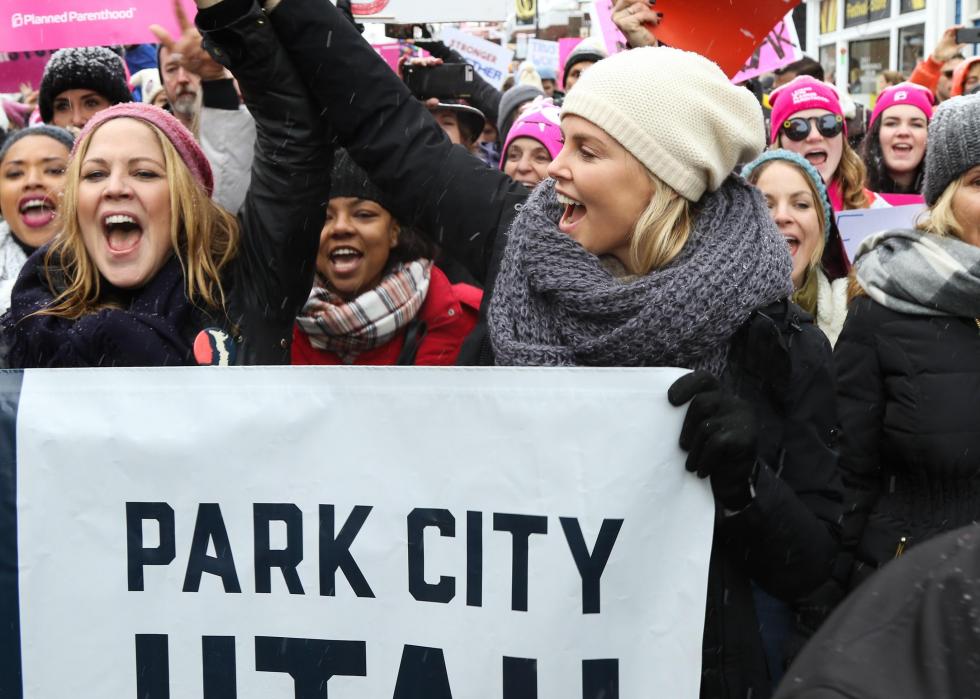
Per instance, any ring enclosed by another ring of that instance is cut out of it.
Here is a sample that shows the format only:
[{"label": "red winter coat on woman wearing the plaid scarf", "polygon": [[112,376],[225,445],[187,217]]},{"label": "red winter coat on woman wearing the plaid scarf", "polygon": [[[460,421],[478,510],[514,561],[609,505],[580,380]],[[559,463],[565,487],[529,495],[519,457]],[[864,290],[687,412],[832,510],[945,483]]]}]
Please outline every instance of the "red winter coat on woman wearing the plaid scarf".
[{"label": "red winter coat on woman wearing the plaid scarf", "polygon": [[[482,298],[483,292],[475,286],[450,284],[442,270],[432,267],[429,291],[418,314],[418,320],[425,323],[426,330],[415,355],[417,366],[450,366],[456,363],[463,340],[476,326]],[[375,366],[395,364],[404,344],[405,333],[400,332],[380,347],[357,355],[353,363]],[[306,333],[298,325],[294,325],[292,363],[344,362],[334,352],[314,347]]]}]

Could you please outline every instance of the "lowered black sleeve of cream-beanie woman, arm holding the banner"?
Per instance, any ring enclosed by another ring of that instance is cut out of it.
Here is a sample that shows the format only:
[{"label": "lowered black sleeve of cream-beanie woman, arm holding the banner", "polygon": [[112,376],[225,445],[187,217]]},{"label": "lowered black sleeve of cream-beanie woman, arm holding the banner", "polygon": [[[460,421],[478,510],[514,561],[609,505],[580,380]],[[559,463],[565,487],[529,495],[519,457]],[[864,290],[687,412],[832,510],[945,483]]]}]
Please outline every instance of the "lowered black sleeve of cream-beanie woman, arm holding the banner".
[{"label": "lowered black sleeve of cream-beanie woman, arm holding the banner", "polygon": [[755,497],[719,526],[730,560],[786,601],[829,577],[842,500],[830,344],[812,323],[791,322],[788,334],[753,323],[733,350],[744,376],[756,377],[741,383],[759,405],[763,434]]}]

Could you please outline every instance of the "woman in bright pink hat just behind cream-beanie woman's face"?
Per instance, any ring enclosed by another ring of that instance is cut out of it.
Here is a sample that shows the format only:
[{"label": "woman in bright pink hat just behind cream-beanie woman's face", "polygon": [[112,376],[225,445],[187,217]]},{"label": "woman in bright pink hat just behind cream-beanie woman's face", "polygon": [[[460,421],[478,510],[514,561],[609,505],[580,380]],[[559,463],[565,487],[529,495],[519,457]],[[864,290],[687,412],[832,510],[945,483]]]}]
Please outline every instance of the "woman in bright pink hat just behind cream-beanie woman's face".
[{"label": "woman in bright pink hat just behind cream-beanie woman's face", "polygon": [[548,165],[561,151],[560,114],[550,99],[537,100],[507,133],[500,169],[528,189],[548,177]]}]

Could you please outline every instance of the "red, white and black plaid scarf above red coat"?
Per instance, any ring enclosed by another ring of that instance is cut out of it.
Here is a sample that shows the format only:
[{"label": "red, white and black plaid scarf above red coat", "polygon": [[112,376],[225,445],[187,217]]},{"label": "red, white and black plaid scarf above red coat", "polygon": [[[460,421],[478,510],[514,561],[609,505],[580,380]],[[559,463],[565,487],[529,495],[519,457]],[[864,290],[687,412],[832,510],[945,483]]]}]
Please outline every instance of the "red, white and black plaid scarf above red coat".
[{"label": "red, white and black plaid scarf above red coat", "polygon": [[318,276],[296,323],[314,347],[351,363],[361,352],[389,342],[418,314],[429,291],[432,261],[394,267],[376,287],[344,301]]}]

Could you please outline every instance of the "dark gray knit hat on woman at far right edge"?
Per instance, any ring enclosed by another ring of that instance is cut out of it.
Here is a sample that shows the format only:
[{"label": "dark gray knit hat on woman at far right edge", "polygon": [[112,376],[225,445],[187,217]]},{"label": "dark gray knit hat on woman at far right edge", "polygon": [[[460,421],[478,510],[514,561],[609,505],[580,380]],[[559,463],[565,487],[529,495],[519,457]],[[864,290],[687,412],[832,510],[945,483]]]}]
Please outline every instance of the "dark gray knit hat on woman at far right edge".
[{"label": "dark gray knit hat on woman at far right edge", "polygon": [[953,97],[940,104],[929,122],[922,194],[932,206],[950,182],[980,165],[980,95]]}]

